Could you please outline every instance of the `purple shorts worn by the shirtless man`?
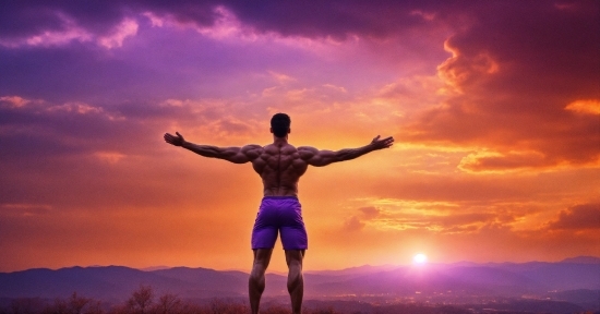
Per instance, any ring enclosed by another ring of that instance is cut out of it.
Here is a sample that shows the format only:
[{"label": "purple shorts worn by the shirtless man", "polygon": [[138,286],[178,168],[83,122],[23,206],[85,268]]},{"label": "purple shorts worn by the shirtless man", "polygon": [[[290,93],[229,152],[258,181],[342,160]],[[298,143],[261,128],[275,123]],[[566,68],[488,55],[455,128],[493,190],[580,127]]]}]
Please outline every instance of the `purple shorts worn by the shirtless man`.
[{"label": "purple shorts worn by the shirtless man", "polygon": [[273,249],[281,233],[284,250],[307,250],[302,208],[296,196],[265,196],[252,229],[252,250]]}]

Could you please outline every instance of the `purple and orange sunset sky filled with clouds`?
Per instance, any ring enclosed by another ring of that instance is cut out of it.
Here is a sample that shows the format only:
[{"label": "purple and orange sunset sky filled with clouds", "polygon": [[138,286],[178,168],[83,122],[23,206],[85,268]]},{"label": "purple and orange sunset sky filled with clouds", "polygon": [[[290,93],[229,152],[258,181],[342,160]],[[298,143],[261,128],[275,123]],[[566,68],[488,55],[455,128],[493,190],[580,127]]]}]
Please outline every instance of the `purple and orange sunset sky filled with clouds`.
[{"label": "purple and orange sunset sky filled with clouds", "polygon": [[396,141],[301,178],[304,269],[600,256],[598,29],[598,1],[4,2],[0,271],[248,271],[260,177],[163,134],[266,145],[277,112],[296,146]]}]

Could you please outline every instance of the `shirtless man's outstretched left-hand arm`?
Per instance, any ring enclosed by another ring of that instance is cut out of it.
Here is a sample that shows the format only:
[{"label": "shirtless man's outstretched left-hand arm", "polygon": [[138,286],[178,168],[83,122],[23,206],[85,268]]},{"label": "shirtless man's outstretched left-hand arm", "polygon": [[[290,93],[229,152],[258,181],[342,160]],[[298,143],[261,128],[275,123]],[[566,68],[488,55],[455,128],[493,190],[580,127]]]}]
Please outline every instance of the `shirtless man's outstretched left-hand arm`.
[{"label": "shirtless man's outstretched left-hand arm", "polygon": [[165,133],[165,142],[183,147],[188,150],[194,152],[197,155],[208,158],[219,158],[235,164],[244,164],[252,161],[260,155],[257,149],[262,148],[260,145],[247,145],[243,147],[217,147],[212,145],[199,145],[188,142],[183,138],[179,132],[176,135]]}]

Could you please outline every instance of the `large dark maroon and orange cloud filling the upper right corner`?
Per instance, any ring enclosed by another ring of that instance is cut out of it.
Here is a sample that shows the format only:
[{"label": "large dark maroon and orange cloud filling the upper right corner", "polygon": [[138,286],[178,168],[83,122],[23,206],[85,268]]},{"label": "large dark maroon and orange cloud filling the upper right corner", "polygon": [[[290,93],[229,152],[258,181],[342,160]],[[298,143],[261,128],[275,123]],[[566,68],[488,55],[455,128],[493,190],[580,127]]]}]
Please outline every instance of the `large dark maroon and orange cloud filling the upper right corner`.
[{"label": "large dark maroon and orange cloud filling the upper right corner", "polygon": [[598,3],[537,2],[488,15],[489,3],[445,43],[453,56],[439,75],[458,94],[407,123],[406,141],[494,152],[464,160],[468,171],[598,167],[597,101],[580,100],[600,96],[600,38],[589,32],[600,25],[588,11]]}]

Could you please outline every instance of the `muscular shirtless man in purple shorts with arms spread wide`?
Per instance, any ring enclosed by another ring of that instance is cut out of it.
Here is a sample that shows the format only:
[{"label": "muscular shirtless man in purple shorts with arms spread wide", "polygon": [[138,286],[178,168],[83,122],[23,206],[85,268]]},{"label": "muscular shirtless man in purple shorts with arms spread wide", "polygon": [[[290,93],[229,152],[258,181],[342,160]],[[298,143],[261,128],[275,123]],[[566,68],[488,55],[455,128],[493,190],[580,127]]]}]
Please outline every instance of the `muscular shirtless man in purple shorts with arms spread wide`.
[{"label": "muscular shirtless man in purple shorts with arms spread wide", "polygon": [[259,313],[261,295],[265,289],[265,271],[271,254],[281,234],[281,242],[288,265],[288,291],[292,313],[300,314],[304,289],[302,259],[308,249],[307,231],[298,202],[298,181],[309,166],[323,167],[332,162],[355,159],[373,150],[388,148],[394,143],[392,136],[380,140],[377,135],[365,146],[337,152],[319,150],[314,147],[293,147],[288,143],[290,119],[277,113],[271,119],[273,144],[266,146],[247,145],[243,147],[215,147],[187,142],[181,134],[165,134],[165,141],[181,146],[204,157],[219,158],[235,164],[252,162],[263,180],[264,197],[252,230],[254,264],[250,273],[249,295],[252,313]]}]

